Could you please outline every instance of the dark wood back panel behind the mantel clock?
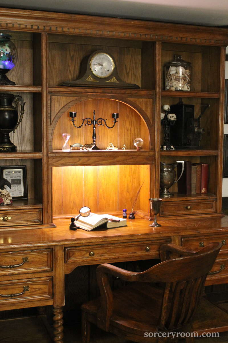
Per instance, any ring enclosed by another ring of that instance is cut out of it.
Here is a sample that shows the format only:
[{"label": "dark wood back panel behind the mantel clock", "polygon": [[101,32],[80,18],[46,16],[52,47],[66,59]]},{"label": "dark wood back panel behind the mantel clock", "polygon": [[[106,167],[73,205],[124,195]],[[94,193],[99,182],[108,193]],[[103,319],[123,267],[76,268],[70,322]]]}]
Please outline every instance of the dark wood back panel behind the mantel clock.
[{"label": "dark wood back panel behind the mantel clock", "polygon": [[87,57],[97,50],[103,50],[115,58],[118,74],[123,81],[141,85],[141,50],[139,48],[49,42],[49,86],[77,80],[80,75],[81,61],[87,60]]}]

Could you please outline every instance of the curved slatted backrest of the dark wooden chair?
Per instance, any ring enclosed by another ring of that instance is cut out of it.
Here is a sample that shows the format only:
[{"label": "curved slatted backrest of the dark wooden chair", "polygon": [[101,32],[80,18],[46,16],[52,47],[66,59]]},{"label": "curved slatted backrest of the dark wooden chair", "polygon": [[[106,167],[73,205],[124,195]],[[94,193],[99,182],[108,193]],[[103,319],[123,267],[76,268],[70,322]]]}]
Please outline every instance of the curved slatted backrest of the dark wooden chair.
[{"label": "curved slatted backrest of the dark wooden chair", "polygon": [[[190,256],[166,260],[138,273],[138,282],[164,283],[160,330],[178,329],[191,320],[220,247],[220,243],[211,243],[199,251],[189,252]],[[169,244],[166,249],[169,250]]]}]

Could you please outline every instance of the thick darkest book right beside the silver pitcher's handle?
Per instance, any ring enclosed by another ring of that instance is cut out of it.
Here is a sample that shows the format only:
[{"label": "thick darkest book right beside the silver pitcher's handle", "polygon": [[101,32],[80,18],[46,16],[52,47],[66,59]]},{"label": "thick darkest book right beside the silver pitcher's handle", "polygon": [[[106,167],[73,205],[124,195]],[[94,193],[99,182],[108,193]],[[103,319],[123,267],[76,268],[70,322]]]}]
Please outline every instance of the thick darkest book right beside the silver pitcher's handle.
[{"label": "thick darkest book right beside the silver pitcher's handle", "polygon": [[[180,194],[191,194],[191,162],[184,161],[184,171],[182,177],[177,181],[177,191]],[[177,177],[182,171],[182,164],[177,164]]]}]

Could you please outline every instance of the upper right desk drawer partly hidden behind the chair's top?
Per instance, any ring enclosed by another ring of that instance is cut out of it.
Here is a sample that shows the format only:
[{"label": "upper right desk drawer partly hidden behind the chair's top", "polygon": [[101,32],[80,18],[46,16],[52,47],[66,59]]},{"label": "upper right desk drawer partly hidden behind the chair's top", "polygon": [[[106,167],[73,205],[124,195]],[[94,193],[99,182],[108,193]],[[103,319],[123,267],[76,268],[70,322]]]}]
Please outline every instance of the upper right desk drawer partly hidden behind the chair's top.
[{"label": "upper right desk drawer partly hidden behind the chair's top", "polygon": [[228,249],[228,235],[216,235],[216,236],[201,236],[194,238],[182,238],[182,246],[185,248],[199,250],[202,247],[205,247],[209,243],[220,242],[222,247],[220,251]]}]

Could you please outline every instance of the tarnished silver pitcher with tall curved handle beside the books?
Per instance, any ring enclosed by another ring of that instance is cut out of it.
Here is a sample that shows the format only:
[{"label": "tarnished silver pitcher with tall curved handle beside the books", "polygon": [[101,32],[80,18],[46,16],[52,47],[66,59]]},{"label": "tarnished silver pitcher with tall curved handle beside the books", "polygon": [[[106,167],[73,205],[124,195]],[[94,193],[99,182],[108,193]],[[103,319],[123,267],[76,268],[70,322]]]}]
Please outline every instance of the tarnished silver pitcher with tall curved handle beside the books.
[{"label": "tarnished silver pitcher with tall curved handle beside the books", "polygon": [[[177,163],[182,163],[182,171],[180,176],[175,181],[176,171],[174,168],[177,166]],[[160,162],[160,197],[167,198],[173,197],[173,194],[169,192],[169,188],[174,185],[181,177],[184,171],[184,161],[176,161],[175,163],[164,163]]]}]

